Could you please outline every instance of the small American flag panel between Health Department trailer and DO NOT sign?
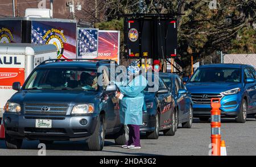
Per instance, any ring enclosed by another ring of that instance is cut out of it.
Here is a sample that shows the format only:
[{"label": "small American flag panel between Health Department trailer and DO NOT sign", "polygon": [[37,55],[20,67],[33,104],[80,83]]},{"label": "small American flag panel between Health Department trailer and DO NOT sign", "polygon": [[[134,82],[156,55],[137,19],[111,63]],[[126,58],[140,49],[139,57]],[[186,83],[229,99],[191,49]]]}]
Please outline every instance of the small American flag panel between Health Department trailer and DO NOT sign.
[{"label": "small American flag panel between Health Department trailer and DO NOT sign", "polygon": [[93,59],[98,52],[98,29],[79,28],[77,31],[77,56]]}]

